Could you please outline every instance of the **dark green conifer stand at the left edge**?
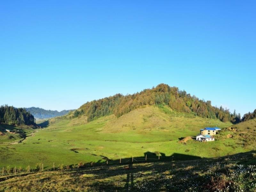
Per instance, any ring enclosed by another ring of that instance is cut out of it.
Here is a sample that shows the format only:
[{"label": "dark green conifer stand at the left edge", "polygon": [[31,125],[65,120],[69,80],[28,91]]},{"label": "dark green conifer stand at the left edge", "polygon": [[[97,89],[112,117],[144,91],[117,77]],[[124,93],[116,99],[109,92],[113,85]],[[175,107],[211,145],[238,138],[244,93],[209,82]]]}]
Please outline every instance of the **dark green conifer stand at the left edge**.
[{"label": "dark green conifer stand at the left edge", "polygon": [[34,116],[24,108],[14,108],[8,105],[0,107],[0,124],[36,125]]}]

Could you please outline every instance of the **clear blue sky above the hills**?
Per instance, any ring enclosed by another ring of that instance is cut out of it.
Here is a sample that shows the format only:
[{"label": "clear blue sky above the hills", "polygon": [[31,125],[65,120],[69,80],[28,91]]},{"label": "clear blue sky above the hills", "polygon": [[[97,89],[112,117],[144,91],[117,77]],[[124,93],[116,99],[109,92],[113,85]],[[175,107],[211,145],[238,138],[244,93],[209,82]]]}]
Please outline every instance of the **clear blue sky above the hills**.
[{"label": "clear blue sky above the hills", "polygon": [[256,108],[256,1],[1,1],[0,104],[74,109],[160,83]]}]

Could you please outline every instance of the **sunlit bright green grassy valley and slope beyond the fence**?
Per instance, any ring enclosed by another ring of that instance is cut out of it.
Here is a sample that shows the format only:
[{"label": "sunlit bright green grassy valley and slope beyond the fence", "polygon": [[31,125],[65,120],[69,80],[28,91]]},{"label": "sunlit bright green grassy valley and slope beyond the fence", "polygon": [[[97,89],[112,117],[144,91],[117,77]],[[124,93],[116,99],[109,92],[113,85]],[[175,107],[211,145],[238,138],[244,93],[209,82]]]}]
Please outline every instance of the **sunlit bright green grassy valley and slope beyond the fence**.
[{"label": "sunlit bright green grassy valley and slope beyond the fence", "polygon": [[[185,115],[169,108],[145,107],[133,110],[119,118],[106,116],[90,123],[86,117],[73,120],[57,117],[50,120],[44,130],[17,145],[1,144],[0,166],[22,166],[43,162],[77,164],[104,161],[120,157],[144,156],[146,152],[160,152],[162,156],[185,154],[188,156],[217,157],[252,150],[234,139],[226,139],[227,131],[215,142],[200,143],[189,140],[186,145],[179,138],[195,136],[205,126],[225,128],[230,123]],[[75,150],[72,151],[71,149]],[[102,156],[101,156],[102,155]],[[178,158],[178,156],[176,156]],[[175,160],[175,156],[174,156]]]}]

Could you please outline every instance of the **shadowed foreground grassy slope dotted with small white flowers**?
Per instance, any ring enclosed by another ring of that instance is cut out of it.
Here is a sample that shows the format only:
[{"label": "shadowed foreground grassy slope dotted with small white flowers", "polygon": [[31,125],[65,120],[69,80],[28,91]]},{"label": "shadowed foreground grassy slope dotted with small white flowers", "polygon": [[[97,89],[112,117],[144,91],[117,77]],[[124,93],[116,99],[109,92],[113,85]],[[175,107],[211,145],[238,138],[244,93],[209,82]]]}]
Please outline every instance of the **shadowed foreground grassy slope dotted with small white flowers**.
[{"label": "shadowed foreground grassy slope dotted with small white flowers", "polygon": [[[256,191],[256,154],[0,176],[0,191]],[[250,165],[251,164],[251,165]],[[229,190],[227,190],[229,189]]]}]

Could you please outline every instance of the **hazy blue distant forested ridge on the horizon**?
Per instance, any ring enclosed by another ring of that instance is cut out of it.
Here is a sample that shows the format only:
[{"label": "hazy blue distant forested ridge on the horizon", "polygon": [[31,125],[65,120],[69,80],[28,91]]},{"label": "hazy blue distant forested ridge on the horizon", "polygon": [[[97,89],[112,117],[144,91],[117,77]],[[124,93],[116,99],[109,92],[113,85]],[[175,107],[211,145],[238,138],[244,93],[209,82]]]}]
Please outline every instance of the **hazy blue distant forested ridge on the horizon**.
[{"label": "hazy blue distant forested ridge on the horizon", "polygon": [[38,107],[30,107],[30,108],[25,108],[26,111],[30,112],[33,116],[36,118],[52,118],[56,116],[63,116],[69,113],[72,110],[63,110],[63,111],[52,111],[52,110],[45,110],[43,108],[38,108]]}]

